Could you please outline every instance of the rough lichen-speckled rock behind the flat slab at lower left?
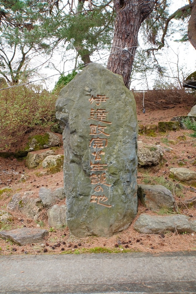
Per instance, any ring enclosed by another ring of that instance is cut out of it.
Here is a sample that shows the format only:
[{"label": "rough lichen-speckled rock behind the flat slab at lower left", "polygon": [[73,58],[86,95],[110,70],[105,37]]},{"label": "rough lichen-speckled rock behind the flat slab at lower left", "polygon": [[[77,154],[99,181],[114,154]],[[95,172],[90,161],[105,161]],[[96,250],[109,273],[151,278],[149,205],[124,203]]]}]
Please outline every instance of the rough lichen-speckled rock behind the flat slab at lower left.
[{"label": "rough lichen-speckled rock behind the flat slab at lower left", "polygon": [[43,204],[40,198],[32,197],[34,193],[33,191],[27,191],[24,194],[14,194],[7,205],[7,209],[10,211],[20,211],[25,216],[37,220]]}]

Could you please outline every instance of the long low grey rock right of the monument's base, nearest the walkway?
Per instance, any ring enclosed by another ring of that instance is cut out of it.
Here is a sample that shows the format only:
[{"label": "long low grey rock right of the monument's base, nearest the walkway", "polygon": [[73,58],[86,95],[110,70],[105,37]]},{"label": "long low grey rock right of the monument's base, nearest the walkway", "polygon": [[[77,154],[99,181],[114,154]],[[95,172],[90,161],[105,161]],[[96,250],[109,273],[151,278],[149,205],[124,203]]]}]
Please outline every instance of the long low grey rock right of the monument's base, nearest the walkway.
[{"label": "long low grey rock right of the monument's base, nearest the walkway", "polygon": [[196,230],[196,221],[189,221],[184,215],[150,216],[142,214],[136,220],[134,229],[143,234],[159,234],[167,231],[192,233]]}]

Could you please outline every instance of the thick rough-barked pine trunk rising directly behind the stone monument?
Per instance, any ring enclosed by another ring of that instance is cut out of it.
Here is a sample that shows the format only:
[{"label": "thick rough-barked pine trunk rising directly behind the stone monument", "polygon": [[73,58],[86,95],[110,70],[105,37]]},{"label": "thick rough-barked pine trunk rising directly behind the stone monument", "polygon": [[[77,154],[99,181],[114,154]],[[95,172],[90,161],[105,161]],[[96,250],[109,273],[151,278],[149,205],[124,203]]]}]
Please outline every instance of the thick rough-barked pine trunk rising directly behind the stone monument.
[{"label": "thick rough-barked pine trunk rising directly behind the stone monument", "polygon": [[[114,0],[116,20],[111,53],[119,51],[110,55],[108,69],[123,76],[127,88],[138,45],[138,31],[142,22],[152,12],[154,3],[154,0]],[[130,52],[119,49],[125,47]]]}]

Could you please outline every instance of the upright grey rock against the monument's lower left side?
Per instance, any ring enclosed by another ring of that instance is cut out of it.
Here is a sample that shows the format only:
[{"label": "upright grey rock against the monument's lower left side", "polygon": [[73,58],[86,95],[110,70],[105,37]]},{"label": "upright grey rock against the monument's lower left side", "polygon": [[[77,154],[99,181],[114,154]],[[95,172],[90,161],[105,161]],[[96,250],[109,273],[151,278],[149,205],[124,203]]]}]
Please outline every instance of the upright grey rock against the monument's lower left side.
[{"label": "upright grey rock against the monument's lower left side", "polygon": [[66,211],[67,211],[66,205],[61,205],[61,206],[58,206],[57,204],[53,205],[48,210],[48,224],[49,224],[49,226],[56,228],[56,229],[65,228],[67,226]]}]

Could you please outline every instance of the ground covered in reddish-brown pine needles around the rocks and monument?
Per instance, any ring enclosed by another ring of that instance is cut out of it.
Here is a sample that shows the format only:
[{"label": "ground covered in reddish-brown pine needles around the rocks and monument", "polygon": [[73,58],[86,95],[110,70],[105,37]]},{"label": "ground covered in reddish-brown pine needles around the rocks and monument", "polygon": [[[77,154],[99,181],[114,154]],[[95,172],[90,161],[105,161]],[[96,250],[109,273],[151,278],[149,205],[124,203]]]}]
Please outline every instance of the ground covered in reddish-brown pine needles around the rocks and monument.
[{"label": "ground covered in reddish-brown pine needles around the rocks and monument", "polygon": [[[177,105],[166,110],[161,109],[146,109],[143,113],[142,109],[137,110],[138,122],[140,124],[158,124],[158,121],[170,121],[174,116],[186,116],[191,107],[184,105]],[[196,171],[196,138],[190,137],[191,131],[180,130],[172,131],[160,135],[157,133],[156,137],[148,137],[140,135],[138,140],[148,144],[159,144],[162,146],[172,148],[171,152],[165,152],[163,162],[158,166],[148,168],[138,168],[138,183],[143,183],[146,175],[150,178],[164,176],[165,180],[169,179],[169,171],[171,167],[180,167],[180,165],[190,170]],[[185,136],[184,140],[179,141],[179,136]],[[20,142],[22,145],[23,142]],[[63,154],[63,148],[57,148],[56,154]],[[36,171],[38,171],[36,169]],[[21,174],[28,174],[30,177],[24,183],[19,183]],[[177,184],[177,181],[174,181]],[[10,201],[13,194],[23,191],[35,191],[34,196],[38,196],[40,187],[51,188],[63,186],[63,172],[53,175],[45,175],[37,177],[34,170],[28,170],[24,161],[17,161],[15,158],[1,158],[0,157],[0,190],[3,187],[10,187],[12,190],[4,192],[0,195],[0,209],[6,210],[6,205]],[[194,187],[193,187],[194,188]],[[196,188],[195,188],[196,189]],[[196,206],[185,205],[185,201],[196,196],[196,190],[190,191],[190,186],[184,185],[184,190],[179,194],[174,195],[177,211],[172,213],[182,213],[193,219],[196,219]],[[65,201],[60,203],[65,204]],[[139,203],[138,214],[135,220],[141,213],[155,214],[148,211]],[[164,212],[162,212],[164,213]],[[167,214],[168,212],[165,211]],[[158,213],[161,214],[161,213]],[[32,219],[24,218],[21,213],[12,213],[13,221],[9,224],[9,228],[36,227]],[[47,223],[47,211],[43,210],[41,215],[43,228],[49,230]],[[135,222],[134,220],[134,222]],[[0,255],[1,254],[47,254],[47,253],[82,253],[82,252],[129,252],[129,251],[143,251],[143,252],[168,252],[180,250],[196,250],[196,233],[179,234],[167,233],[165,235],[156,234],[140,234],[133,229],[133,225],[128,230],[118,233],[111,238],[98,238],[91,236],[88,238],[74,238],[69,235],[66,228],[63,231],[51,229],[49,236],[40,244],[31,244],[19,246],[9,240],[0,239]]]}]

